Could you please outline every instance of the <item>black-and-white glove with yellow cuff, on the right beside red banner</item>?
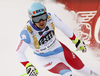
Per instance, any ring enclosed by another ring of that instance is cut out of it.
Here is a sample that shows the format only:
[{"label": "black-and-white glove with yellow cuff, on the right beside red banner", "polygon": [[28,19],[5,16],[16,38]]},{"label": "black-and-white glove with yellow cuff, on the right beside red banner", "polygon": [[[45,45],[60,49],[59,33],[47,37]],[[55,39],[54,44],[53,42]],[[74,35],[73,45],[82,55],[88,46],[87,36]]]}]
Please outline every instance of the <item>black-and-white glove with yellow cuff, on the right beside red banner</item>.
[{"label": "black-and-white glove with yellow cuff, on the right beside red banner", "polygon": [[75,40],[72,40],[72,42],[75,44],[77,50],[82,52],[87,51],[85,43],[83,41],[79,40],[78,38],[75,38]]}]

